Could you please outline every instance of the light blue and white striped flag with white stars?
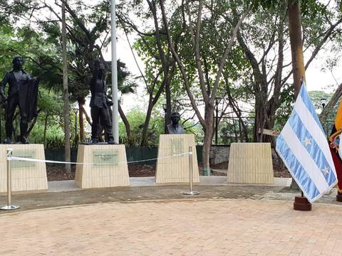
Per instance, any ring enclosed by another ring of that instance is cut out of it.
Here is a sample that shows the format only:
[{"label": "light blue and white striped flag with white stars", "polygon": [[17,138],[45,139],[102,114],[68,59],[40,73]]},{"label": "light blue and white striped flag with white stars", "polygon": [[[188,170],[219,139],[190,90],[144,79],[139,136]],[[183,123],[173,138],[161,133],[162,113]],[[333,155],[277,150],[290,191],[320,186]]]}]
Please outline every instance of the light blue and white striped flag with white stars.
[{"label": "light blue and white striped flag with white stars", "polygon": [[311,203],[336,185],[326,134],[304,82],[294,110],[276,139],[276,151]]}]

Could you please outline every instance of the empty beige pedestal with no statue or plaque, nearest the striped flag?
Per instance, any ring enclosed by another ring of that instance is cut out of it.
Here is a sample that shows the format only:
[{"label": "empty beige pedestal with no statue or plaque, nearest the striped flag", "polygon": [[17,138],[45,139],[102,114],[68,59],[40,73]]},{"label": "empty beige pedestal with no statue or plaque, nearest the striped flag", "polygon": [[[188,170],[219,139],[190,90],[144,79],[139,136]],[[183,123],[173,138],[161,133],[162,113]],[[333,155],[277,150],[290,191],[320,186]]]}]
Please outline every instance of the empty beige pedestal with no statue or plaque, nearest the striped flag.
[{"label": "empty beige pedestal with no statue or plaque, nearest the striped flag", "polygon": [[271,144],[232,143],[227,182],[273,184]]}]

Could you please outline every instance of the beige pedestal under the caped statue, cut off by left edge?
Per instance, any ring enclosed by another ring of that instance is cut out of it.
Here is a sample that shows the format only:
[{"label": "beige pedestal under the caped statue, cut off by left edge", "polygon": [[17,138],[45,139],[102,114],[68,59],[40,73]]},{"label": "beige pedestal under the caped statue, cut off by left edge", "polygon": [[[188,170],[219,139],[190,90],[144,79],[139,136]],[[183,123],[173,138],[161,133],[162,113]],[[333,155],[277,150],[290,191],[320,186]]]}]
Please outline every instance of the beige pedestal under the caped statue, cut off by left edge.
[{"label": "beige pedestal under the caped statue, cut off by left edge", "polygon": [[[0,144],[0,192],[7,191],[7,149],[13,149],[12,156],[45,160],[43,144]],[[12,191],[46,191],[45,163],[32,161],[11,161]]]}]

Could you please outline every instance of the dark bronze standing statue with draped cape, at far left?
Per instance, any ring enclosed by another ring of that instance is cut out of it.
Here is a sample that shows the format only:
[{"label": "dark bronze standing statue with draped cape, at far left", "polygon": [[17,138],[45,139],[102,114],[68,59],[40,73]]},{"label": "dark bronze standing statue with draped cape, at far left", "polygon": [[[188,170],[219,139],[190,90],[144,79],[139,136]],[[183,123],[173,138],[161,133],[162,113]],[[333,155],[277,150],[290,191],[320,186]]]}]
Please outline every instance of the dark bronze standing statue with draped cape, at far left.
[{"label": "dark bronze standing statue with draped cape, at far left", "polygon": [[[13,70],[6,72],[4,79],[0,82],[1,103],[6,107],[6,139],[4,139],[4,143],[11,144],[12,142],[14,112],[19,106],[21,116],[19,142],[28,144],[28,122],[37,114],[38,80],[31,78],[23,70],[23,57],[14,57],[12,63]],[[6,97],[5,87],[7,83],[9,90]]]}]

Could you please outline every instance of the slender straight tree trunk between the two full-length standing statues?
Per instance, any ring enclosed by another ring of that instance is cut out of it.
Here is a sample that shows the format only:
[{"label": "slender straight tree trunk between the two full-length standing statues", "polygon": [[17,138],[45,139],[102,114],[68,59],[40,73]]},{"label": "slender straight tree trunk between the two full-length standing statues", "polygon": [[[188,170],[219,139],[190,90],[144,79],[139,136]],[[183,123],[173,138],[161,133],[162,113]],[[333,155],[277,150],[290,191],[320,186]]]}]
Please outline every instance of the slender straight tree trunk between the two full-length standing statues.
[{"label": "slender straight tree trunk between the two full-length standing statues", "polygon": [[[71,160],[70,149],[70,117],[69,117],[69,92],[68,92],[68,60],[66,58],[66,4],[62,1],[62,55],[63,55],[63,98],[64,98],[64,136],[65,136],[65,161]],[[66,164],[66,173],[71,173],[70,164]]]}]

